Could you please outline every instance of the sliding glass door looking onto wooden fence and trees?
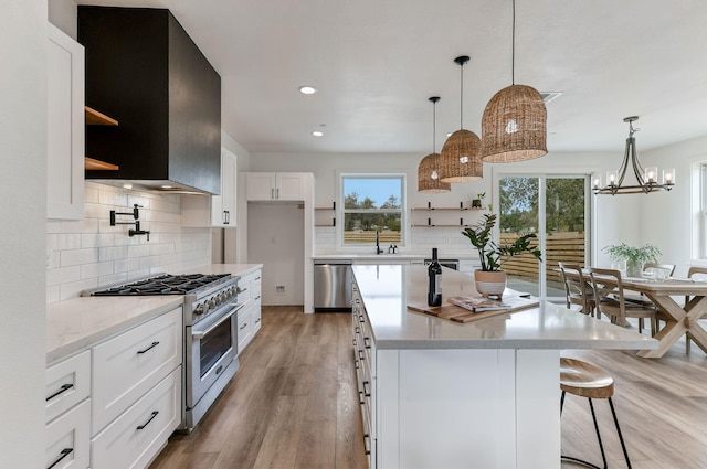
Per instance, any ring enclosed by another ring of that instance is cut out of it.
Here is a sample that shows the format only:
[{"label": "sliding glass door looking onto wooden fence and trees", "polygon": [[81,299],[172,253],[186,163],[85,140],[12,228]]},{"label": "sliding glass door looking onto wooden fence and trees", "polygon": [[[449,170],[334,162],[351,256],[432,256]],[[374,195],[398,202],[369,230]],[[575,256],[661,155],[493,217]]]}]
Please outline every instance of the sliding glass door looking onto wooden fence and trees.
[{"label": "sliding glass door looking onto wooden fence and trees", "polygon": [[589,177],[559,174],[498,178],[499,241],[536,233],[542,264],[524,255],[508,260],[508,287],[549,300],[564,298],[559,262],[585,265],[589,257]]}]

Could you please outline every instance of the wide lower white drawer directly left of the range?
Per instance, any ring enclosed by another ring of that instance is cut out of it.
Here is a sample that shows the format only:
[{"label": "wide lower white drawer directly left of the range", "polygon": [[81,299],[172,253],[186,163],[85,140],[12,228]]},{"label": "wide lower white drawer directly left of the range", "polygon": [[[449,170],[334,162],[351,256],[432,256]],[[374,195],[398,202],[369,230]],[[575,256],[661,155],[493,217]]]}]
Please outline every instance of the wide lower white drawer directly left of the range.
[{"label": "wide lower white drawer directly left of the range", "polygon": [[181,366],[91,440],[91,467],[145,468],[181,423]]}]

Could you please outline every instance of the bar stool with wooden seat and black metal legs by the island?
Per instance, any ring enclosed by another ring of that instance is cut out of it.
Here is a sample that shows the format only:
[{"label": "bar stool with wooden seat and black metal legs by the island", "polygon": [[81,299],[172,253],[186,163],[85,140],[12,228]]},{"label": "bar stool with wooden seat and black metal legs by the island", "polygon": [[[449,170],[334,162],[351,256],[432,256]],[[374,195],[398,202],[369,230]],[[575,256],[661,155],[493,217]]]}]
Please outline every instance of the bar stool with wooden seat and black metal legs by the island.
[{"label": "bar stool with wooden seat and black metal legs by the island", "polygon": [[614,417],[614,425],[616,426],[621,448],[623,449],[623,456],[626,459],[626,466],[631,469],[631,460],[629,460],[626,445],[623,441],[623,435],[619,427],[619,419],[616,418],[614,404],[611,401],[611,397],[614,395],[614,379],[609,373],[591,363],[576,359],[560,358],[560,388],[562,390],[562,397],[560,398],[560,416],[562,416],[564,395],[567,393],[574,394],[579,397],[587,397],[589,399],[589,408],[591,409],[592,418],[594,419],[594,430],[597,431],[597,439],[599,440],[599,449],[601,450],[601,459],[604,462],[604,467],[600,468],[591,462],[570,456],[562,455],[561,458],[595,469],[608,468],[604,445],[601,441],[599,424],[597,424],[597,414],[594,414],[594,404],[592,403],[592,399],[608,399],[609,406],[611,407],[611,415]]}]

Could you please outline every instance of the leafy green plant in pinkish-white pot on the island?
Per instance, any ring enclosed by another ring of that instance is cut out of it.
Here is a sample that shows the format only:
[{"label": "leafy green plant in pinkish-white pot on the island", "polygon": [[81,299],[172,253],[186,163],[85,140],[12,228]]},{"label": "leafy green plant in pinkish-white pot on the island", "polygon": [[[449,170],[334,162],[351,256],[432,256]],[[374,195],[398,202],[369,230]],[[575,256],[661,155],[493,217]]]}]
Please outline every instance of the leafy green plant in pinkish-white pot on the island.
[{"label": "leafy green plant in pinkish-white pot on the island", "polygon": [[485,297],[500,297],[506,288],[506,273],[502,266],[511,257],[528,253],[542,262],[542,253],[537,246],[530,245],[530,239],[537,237],[535,233],[521,233],[509,245],[502,245],[492,239],[492,231],[496,225],[497,215],[485,213],[473,227],[464,228],[462,234],[468,238],[478,252],[482,268],[474,271],[476,290]]}]

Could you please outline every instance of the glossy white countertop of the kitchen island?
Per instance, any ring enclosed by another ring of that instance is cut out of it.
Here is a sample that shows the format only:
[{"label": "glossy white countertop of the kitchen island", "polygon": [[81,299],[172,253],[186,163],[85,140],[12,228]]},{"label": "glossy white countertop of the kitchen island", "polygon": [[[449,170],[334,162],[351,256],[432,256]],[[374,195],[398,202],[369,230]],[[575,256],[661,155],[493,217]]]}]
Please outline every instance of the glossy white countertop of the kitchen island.
[{"label": "glossy white countertop of the kitchen island", "polygon": [[[426,268],[355,265],[354,275],[379,349],[657,349],[647,335],[564,307],[539,307],[467,323],[410,311],[426,303]],[[443,299],[477,295],[474,279],[444,269]]]}]

